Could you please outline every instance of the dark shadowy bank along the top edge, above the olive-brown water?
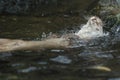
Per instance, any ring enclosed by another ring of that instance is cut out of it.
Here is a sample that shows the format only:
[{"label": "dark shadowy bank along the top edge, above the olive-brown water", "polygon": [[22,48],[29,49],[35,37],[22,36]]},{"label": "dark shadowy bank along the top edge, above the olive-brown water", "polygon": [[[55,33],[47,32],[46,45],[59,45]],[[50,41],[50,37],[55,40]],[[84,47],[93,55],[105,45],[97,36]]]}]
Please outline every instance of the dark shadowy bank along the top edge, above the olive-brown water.
[{"label": "dark shadowy bank along the top edge, above the olive-brown water", "polygon": [[[93,7],[99,0],[0,0],[0,14],[58,15],[78,13]],[[86,3],[87,2],[87,3]],[[81,5],[82,4],[82,5]],[[90,7],[88,7],[92,4]]]}]

